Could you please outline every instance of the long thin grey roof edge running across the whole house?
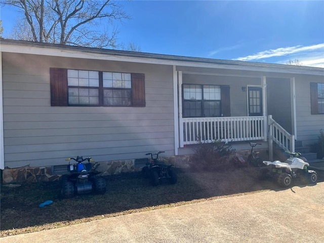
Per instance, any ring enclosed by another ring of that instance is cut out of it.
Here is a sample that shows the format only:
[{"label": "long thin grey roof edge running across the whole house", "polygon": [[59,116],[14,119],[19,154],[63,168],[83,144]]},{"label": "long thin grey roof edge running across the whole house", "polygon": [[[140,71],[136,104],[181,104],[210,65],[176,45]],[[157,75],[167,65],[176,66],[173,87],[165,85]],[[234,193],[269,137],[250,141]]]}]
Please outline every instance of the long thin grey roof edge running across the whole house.
[{"label": "long thin grey roof edge running across the whole house", "polygon": [[134,57],[134,58],[161,59],[161,60],[183,61],[183,62],[199,62],[199,63],[209,63],[209,64],[219,64],[219,65],[272,67],[272,68],[284,68],[284,69],[296,69],[296,70],[308,70],[308,71],[314,70],[314,71],[324,72],[324,68],[321,67],[296,66],[296,65],[287,65],[287,64],[247,62],[247,61],[222,60],[222,59],[201,58],[201,57],[176,56],[176,55],[168,55],[168,54],[121,51],[121,50],[100,49],[100,48],[93,48],[93,47],[78,47],[78,46],[68,46],[68,45],[60,45],[60,44],[20,41],[15,39],[4,39],[4,38],[0,40],[0,45],[16,45],[16,46],[38,47],[38,48],[48,48],[48,49],[61,49],[61,50],[68,50],[68,51],[97,53],[97,54],[104,54],[104,55],[115,55],[115,56],[125,56],[125,57]]}]

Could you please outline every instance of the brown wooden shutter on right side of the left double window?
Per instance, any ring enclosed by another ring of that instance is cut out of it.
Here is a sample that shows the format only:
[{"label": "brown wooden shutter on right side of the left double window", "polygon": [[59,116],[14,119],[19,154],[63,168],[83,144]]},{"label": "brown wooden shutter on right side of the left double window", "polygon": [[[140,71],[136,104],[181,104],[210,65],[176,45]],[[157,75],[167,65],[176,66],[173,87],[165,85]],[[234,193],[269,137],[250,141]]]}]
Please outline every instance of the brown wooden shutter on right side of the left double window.
[{"label": "brown wooden shutter on right side of the left double window", "polygon": [[132,73],[132,105],[145,107],[145,75]]}]

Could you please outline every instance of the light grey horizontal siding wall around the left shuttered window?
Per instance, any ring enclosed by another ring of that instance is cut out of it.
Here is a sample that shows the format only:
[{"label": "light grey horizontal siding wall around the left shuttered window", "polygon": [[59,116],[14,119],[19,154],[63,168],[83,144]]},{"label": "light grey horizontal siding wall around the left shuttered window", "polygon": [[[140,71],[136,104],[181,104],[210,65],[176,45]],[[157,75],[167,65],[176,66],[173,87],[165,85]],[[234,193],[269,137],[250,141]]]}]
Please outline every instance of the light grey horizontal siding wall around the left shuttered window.
[{"label": "light grey horizontal siding wall around the left shuttered window", "polygon": [[[50,67],[144,73],[146,107],[51,107]],[[164,65],[3,53],[5,166],[63,165],[77,155],[99,162],[158,150],[174,155],[172,71]]]}]

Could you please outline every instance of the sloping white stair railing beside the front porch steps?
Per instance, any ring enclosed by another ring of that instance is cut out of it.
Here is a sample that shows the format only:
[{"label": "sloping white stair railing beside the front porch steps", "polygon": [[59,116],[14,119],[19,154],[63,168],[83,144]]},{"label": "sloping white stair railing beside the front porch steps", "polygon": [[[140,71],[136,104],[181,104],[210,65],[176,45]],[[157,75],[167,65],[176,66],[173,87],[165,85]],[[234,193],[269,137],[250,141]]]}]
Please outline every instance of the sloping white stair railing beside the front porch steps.
[{"label": "sloping white stair railing beside the front porch steps", "polygon": [[269,141],[274,141],[280,148],[295,152],[295,136],[291,135],[279,124],[272,119],[272,115],[268,116],[269,124]]}]

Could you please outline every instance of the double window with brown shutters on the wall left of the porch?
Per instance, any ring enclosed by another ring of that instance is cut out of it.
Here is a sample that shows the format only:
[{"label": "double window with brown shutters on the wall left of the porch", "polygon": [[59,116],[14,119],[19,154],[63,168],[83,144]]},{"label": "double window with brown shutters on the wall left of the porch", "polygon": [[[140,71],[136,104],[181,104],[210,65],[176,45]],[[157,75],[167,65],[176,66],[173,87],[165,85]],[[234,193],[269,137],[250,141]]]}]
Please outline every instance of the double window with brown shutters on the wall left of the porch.
[{"label": "double window with brown shutters on the wall left of the porch", "polygon": [[51,68],[52,106],[145,106],[142,73]]}]

